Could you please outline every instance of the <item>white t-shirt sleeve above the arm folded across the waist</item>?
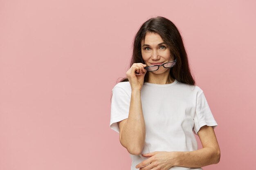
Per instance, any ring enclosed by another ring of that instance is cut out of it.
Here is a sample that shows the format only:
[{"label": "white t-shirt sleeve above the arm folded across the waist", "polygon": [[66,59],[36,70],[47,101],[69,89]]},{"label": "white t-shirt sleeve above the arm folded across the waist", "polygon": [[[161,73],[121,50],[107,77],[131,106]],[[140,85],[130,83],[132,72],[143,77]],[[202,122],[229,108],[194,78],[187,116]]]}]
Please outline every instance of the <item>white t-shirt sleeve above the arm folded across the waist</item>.
[{"label": "white t-shirt sleeve above the arm folded across the waist", "polygon": [[196,97],[196,107],[195,107],[195,116],[194,116],[194,133],[198,135],[198,131],[204,125],[213,126],[216,128],[218,126],[215,121],[211,109],[207,103],[207,100],[204,96],[203,91],[199,91]]}]

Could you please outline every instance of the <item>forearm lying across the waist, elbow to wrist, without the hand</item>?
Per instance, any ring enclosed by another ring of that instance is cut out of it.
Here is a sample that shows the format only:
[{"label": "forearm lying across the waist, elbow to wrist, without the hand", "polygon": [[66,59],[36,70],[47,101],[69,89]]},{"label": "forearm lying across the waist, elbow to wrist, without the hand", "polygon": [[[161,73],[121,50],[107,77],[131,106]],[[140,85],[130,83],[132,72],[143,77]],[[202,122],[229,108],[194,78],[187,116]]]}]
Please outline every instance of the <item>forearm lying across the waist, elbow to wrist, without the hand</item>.
[{"label": "forearm lying across the waist, elbow to wrist, without the hand", "polygon": [[220,152],[214,148],[202,148],[191,152],[175,152],[175,166],[199,168],[220,161]]}]

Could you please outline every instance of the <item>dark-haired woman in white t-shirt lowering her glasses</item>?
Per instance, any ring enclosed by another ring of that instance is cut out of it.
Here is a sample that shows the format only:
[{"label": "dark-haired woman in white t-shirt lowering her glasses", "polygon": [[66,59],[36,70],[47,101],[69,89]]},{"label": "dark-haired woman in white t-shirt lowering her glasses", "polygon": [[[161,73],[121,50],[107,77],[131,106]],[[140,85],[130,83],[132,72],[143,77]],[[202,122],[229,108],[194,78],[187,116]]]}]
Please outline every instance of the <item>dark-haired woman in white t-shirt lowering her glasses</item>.
[{"label": "dark-haired woman in white t-shirt lowering her glasses", "polygon": [[110,128],[131,154],[131,170],[202,170],[219,162],[217,123],[173,22],[156,17],[142,24],[126,75],[112,89]]}]

